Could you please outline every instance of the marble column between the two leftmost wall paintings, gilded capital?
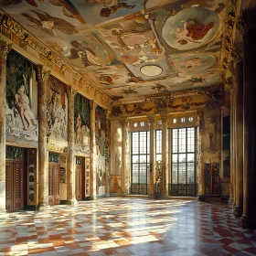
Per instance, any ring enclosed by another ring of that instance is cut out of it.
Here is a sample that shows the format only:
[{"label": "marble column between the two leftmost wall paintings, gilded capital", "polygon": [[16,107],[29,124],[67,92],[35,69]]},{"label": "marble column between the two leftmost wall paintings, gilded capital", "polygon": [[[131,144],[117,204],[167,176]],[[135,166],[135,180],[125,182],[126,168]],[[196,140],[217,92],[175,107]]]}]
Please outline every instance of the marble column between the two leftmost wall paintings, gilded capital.
[{"label": "marble column between the two leftmost wall paintings, gilded capital", "polygon": [[36,66],[38,82],[38,210],[48,207],[47,90],[50,71]]}]

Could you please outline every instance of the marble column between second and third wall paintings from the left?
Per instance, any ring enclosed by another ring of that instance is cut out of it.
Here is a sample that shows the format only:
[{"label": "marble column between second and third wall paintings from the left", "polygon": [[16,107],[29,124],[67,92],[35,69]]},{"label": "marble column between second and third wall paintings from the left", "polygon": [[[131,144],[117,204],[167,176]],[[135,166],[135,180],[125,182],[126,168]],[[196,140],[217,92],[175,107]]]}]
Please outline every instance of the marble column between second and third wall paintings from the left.
[{"label": "marble column between second and third wall paintings from the left", "polygon": [[67,161],[67,204],[74,205],[76,200],[75,181],[75,117],[74,98],[77,90],[71,86],[66,87],[68,94],[68,161]]}]

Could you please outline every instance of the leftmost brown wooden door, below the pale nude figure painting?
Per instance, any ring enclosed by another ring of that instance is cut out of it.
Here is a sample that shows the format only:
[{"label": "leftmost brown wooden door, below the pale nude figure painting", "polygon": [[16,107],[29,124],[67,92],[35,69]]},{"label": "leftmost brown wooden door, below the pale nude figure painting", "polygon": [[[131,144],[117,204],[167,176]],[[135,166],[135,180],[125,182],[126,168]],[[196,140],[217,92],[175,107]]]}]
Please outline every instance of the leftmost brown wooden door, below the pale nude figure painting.
[{"label": "leftmost brown wooden door, below the pale nude figure painting", "polygon": [[13,212],[24,208],[24,174],[22,160],[6,160],[5,198],[6,211]]}]

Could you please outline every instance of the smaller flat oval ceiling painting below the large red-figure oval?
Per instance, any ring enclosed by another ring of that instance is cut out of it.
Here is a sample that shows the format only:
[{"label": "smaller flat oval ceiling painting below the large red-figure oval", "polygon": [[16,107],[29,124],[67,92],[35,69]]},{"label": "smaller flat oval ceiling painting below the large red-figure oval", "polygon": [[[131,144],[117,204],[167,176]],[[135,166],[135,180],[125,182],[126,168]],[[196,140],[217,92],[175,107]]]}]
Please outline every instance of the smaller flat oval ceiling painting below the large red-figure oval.
[{"label": "smaller flat oval ceiling painting below the large red-figure oval", "polygon": [[186,73],[199,73],[216,63],[216,59],[212,55],[204,53],[191,54],[173,61],[176,69]]}]

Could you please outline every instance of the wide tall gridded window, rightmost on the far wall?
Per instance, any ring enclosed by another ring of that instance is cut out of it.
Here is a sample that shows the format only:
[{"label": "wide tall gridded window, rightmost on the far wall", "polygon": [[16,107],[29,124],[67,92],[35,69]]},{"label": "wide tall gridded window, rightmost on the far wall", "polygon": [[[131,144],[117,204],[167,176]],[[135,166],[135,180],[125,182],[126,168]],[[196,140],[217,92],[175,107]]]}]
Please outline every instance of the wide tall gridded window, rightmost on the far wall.
[{"label": "wide tall gridded window, rightmost on the far wall", "polygon": [[197,195],[197,129],[172,129],[172,196]]}]

